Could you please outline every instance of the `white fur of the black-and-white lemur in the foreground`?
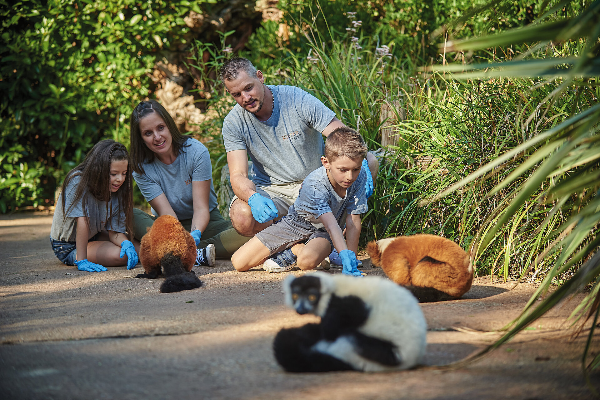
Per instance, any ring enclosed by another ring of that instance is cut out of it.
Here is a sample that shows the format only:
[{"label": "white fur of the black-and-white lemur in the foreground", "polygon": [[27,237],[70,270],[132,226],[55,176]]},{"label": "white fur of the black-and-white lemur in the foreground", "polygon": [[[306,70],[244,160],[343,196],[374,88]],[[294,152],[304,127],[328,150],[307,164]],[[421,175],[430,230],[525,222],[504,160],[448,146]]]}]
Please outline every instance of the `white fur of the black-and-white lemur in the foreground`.
[{"label": "white fur of the black-and-white lemur in the foreground", "polygon": [[[334,342],[319,341],[313,349],[330,354],[362,371],[406,369],[421,362],[427,346],[427,323],[415,296],[394,282],[382,277],[356,278],[343,274],[330,275],[314,272],[321,283],[321,298],[316,314],[325,315],[331,295],[357,296],[367,305],[370,313],[358,331],[364,335],[390,341],[398,349],[398,366],[387,366],[365,359],[356,353],[352,337],[342,336]],[[286,304],[293,307],[290,283],[284,281]]]}]

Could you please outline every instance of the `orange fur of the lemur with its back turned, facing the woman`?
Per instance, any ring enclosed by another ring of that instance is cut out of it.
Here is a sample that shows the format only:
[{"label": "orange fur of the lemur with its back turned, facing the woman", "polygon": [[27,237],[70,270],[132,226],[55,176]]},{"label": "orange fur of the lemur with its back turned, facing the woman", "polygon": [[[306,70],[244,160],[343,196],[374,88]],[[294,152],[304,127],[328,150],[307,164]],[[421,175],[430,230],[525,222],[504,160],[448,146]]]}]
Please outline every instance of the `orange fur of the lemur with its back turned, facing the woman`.
[{"label": "orange fur of the lemur with its back turned, facing the woman", "polygon": [[167,253],[181,259],[187,271],[191,271],[196,260],[196,243],[173,216],[163,215],[148,228],[140,244],[140,261],[146,274],[160,274],[160,259]]}]

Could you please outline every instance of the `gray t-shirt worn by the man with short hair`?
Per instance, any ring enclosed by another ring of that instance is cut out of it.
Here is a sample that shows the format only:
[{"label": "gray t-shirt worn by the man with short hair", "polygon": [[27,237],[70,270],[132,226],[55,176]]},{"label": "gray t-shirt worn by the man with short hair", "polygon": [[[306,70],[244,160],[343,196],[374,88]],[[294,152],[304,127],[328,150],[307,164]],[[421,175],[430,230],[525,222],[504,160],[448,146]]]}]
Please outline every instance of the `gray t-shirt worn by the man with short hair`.
[{"label": "gray t-shirt worn by the man with short hair", "polygon": [[236,104],[223,121],[226,151],[246,150],[257,185],[298,182],[321,165],[321,132],[335,113],[295,86],[271,86],[274,108],[262,122]]}]

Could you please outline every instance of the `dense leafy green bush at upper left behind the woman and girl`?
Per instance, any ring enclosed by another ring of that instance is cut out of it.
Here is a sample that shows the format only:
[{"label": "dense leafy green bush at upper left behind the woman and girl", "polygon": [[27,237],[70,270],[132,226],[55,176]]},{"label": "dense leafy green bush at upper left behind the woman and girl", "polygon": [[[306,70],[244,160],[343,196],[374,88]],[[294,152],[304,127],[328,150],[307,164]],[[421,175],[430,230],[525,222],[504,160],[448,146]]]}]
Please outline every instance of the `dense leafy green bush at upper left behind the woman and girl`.
[{"label": "dense leafy green bush at upper left behind the woman and girl", "polygon": [[[200,11],[199,3],[0,1],[0,152],[8,189],[0,211],[35,204],[44,189],[52,199],[47,192],[101,138],[128,142],[125,121],[149,93],[146,73],[160,50],[187,32],[182,16]],[[22,167],[9,171],[16,160]]]}]

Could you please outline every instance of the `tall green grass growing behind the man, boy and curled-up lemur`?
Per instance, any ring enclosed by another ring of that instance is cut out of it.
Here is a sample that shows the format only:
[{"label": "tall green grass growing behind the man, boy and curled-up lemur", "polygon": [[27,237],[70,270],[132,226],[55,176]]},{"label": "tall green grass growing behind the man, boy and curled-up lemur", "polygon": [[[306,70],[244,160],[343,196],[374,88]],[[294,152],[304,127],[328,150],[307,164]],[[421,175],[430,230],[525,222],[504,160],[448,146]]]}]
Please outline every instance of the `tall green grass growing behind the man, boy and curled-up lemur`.
[{"label": "tall green grass growing behind the man, boy and curled-up lemur", "polygon": [[[458,81],[448,80],[445,72],[425,76],[416,69],[422,60],[393,46],[394,57],[390,57],[377,37],[361,37],[359,32],[337,35],[331,33],[333,29],[317,31],[309,24],[303,26],[307,53],[282,50],[286,58],[263,66],[268,68],[263,71],[268,83],[294,84],[313,93],[338,119],[358,128],[371,150],[380,147],[381,105],[398,101],[406,111],[406,119],[392,126],[398,146],[382,152],[376,190],[364,217],[362,243],[400,234],[439,234],[469,249],[480,274],[505,281],[509,277],[544,277],[556,253],[542,253],[556,240],[556,228],[571,216],[572,202],[563,199],[542,204],[541,185],[512,211],[514,217],[490,236],[490,223],[505,218],[505,205],[514,200],[515,189],[529,181],[529,174],[541,162],[538,154],[530,157],[533,150],[515,153],[453,195],[425,200],[436,198],[442,189],[509,149],[559,125],[578,107],[597,98],[597,89],[573,87],[550,100],[559,83],[538,78]],[[333,37],[325,40],[323,35]],[[560,50],[569,51],[569,47]],[[527,51],[528,47],[513,46],[488,56],[499,54],[506,59]],[[205,69],[218,68],[222,59],[223,53],[213,51],[214,65]],[[211,102],[218,117],[206,128],[211,132],[220,129],[233,104],[218,83],[215,85],[220,91],[215,90]],[[215,142],[220,140],[218,134],[213,136]],[[217,166],[225,160],[222,151],[213,152]],[[497,186],[508,177],[509,184]],[[482,236],[489,239],[484,246],[480,246]],[[558,278],[564,280],[573,271],[563,271]]]}]

